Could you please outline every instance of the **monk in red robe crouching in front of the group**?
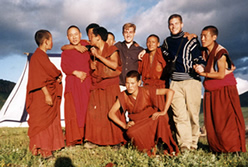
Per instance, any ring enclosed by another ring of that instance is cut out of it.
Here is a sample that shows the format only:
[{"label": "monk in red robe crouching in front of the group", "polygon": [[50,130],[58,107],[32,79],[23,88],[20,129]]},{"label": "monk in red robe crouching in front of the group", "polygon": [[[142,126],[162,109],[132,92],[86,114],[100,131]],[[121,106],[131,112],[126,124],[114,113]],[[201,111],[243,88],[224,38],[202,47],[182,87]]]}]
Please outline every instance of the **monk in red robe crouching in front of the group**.
[{"label": "monk in red robe crouching in front of the group", "polygon": [[[127,73],[127,90],[118,96],[109,112],[109,118],[122,129],[127,130],[128,138],[138,150],[147,152],[148,155],[155,155],[156,151],[152,149],[159,140],[162,140],[164,153],[178,153],[178,147],[172,138],[166,119],[174,91],[165,88],[147,89],[139,87],[140,84],[140,74],[137,71]],[[155,105],[157,95],[166,95],[164,110],[161,112],[158,112],[158,107]],[[128,123],[116,116],[120,107],[128,111],[131,120]]]}]

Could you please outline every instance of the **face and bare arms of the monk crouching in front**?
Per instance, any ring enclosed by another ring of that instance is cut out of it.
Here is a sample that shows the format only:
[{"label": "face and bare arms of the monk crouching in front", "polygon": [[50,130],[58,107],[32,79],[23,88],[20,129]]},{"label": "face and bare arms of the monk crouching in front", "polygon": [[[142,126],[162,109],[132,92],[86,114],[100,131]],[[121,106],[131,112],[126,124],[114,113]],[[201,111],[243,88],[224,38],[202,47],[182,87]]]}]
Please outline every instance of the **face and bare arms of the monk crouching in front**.
[{"label": "face and bare arms of the monk crouching in front", "polygon": [[[128,93],[131,94],[131,96],[134,99],[137,98],[138,91],[139,91],[138,87],[140,86],[140,84],[141,84],[141,81],[137,81],[136,78],[132,78],[132,77],[126,78],[127,91],[128,91]],[[171,90],[171,89],[157,89],[156,90],[156,95],[166,95],[166,101],[165,101],[164,111],[155,112],[152,115],[152,120],[156,120],[156,119],[158,119],[158,117],[164,116],[167,113],[167,111],[168,111],[168,109],[170,107],[170,104],[172,102],[172,99],[173,99],[174,91]],[[127,130],[128,128],[134,126],[135,122],[134,121],[129,121],[127,124],[125,122],[122,122],[116,116],[116,113],[119,111],[120,107],[121,107],[120,101],[119,101],[119,99],[117,99],[116,102],[114,103],[114,105],[112,106],[112,108],[110,109],[108,116],[113,122],[118,124],[123,129]]]}]

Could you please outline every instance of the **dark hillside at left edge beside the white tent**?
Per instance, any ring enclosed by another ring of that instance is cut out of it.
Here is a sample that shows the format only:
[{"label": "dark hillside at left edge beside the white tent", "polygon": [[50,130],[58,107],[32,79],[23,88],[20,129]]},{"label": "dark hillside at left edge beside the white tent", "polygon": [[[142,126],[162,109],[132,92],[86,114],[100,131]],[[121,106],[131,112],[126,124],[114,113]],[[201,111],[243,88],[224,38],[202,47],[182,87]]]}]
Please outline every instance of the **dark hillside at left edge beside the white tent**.
[{"label": "dark hillside at left edge beside the white tent", "polygon": [[0,79],[0,108],[2,108],[14,86],[14,82]]}]

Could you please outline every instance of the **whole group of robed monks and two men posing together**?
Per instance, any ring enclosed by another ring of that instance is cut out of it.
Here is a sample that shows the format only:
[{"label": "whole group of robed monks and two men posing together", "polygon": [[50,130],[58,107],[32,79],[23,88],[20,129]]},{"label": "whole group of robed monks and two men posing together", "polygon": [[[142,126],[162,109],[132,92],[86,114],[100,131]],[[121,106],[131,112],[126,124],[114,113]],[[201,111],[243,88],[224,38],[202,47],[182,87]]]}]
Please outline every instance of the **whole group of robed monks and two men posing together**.
[{"label": "whole group of robed monks and two men posing together", "polygon": [[[149,156],[196,150],[200,134],[201,78],[204,80],[204,122],[213,152],[245,152],[242,115],[235,66],[227,50],[217,44],[218,29],[207,26],[201,42],[184,33],[182,17],[168,19],[171,35],[162,45],[147,37],[147,49],[134,41],[136,26],[123,26],[123,42],[98,24],[67,29],[70,44],[62,46],[65,73],[65,138],[60,125],[61,72],[46,54],[52,48],[47,30],[35,34],[38,48],[29,64],[26,109],[29,148],[44,158],[65,146],[119,146],[131,141]],[[166,66],[174,64],[168,74]],[[141,80],[142,78],[142,80]],[[142,85],[142,86],[141,86]],[[172,109],[173,117],[168,117]],[[175,124],[172,135],[169,119]]]}]

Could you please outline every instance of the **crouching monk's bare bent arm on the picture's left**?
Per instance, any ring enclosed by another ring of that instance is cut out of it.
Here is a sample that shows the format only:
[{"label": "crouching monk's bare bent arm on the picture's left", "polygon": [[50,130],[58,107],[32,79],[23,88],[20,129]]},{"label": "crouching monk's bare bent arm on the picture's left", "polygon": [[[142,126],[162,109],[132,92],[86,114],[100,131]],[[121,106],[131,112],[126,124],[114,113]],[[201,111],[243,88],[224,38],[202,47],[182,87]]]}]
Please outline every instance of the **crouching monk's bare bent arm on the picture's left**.
[{"label": "crouching monk's bare bent arm on the picture's left", "polygon": [[115,122],[117,125],[119,125],[120,127],[122,127],[123,129],[128,129],[129,127],[127,126],[126,123],[122,122],[117,116],[116,113],[119,111],[121,105],[120,105],[120,101],[119,99],[117,99],[114,103],[114,105],[112,106],[112,108],[110,109],[108,116],[109,118]]}]

